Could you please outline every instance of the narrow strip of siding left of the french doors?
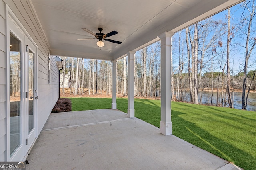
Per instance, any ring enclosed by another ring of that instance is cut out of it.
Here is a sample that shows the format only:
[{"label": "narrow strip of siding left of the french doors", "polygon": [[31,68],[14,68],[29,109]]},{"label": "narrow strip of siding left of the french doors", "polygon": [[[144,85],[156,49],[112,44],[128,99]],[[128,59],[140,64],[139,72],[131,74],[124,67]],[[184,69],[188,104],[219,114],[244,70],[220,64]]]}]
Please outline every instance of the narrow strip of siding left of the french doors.
[{"label": "narrow strip of siding left of the french doors", "polygon": [[6,160],[6,10],[0,1],[0,161]]}]

